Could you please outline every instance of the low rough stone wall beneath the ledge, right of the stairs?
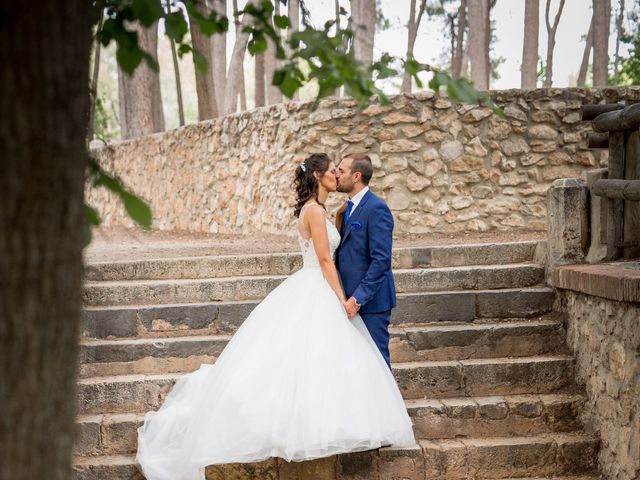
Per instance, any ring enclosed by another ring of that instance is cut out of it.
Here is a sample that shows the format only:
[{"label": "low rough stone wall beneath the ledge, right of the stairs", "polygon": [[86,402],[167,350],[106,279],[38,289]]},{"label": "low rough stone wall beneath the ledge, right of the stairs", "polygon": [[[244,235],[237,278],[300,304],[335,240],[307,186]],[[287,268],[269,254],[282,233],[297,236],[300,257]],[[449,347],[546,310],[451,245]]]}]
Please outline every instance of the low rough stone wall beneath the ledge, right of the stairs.
[{"label": "low rough stone wall beneath the ledge, right of the stairs", "polygon": [[640,478],[640,304],[558,292],[587,390],[583,421],[602,441],[600,470],[609,480]]}]

